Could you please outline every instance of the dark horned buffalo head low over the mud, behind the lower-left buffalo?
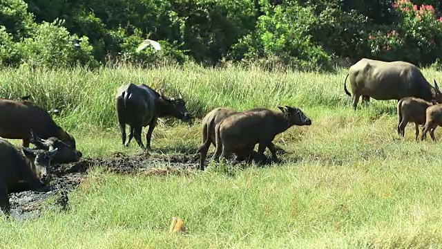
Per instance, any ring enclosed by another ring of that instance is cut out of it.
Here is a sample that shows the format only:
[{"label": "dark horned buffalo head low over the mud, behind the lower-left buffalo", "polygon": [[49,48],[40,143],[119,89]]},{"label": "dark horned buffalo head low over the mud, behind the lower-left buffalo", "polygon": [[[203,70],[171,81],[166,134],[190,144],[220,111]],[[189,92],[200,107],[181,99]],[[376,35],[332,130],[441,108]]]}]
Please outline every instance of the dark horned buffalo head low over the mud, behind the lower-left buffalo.
[{"label": "dark horned buffalo head low over the mud, behind the lower-left buffalo", "polygon": [[57,149],[57,154],[52,157],[53,164],[78,162],[81,156],[83,156],[81,151],[70,147],[65,142],[62,142],[55,137],[50,137],[48,139],[37,138],[31,132],[30,142],[34,144],[38,149],[46,149],[47,151],[53,151]]}]

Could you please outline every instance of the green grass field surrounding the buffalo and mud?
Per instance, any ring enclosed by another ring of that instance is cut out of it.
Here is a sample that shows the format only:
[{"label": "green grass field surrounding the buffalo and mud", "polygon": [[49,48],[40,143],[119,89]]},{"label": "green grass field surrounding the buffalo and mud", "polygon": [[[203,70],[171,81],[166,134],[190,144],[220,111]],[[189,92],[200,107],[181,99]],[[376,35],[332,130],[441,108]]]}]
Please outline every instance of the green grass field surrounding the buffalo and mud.
[{"label": "green grass field surrounding the buffalo and mud", "polygon": [[[128,149],[120,145],[113,106],[115,90],[126,82],[164,82],[170,95],[180,89],[197,118],[214,107],[289,105],[312,120],[276,137],[287,151],[284,163],[265,168],[209,164],[190,176],[149,177],[95,168],[70,192],[69,212],[48,208],[39,219],[0,221],[0,246],[442,248],[441,143],[415,142],[414,124],[400,138],[396,101],[372,100],[352,111],[346,73],[199,66],[0,71],[1,97],[30,93],[48,109],[61,108],[56,120],[85,157],[138,151],[135,141]],[[423,73],[430,82],[442,79]],[[153,136],[155,153],[193,154],[200,125],[168,119]],[[184,219],[186,234],[169,234],[172,216]]]}]

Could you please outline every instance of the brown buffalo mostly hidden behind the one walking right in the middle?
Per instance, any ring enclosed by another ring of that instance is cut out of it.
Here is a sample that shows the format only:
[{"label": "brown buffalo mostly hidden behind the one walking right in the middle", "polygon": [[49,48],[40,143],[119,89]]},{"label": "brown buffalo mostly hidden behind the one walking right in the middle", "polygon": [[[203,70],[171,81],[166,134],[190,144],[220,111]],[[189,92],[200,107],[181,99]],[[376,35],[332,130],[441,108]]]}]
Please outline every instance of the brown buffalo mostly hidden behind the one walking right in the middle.
[{"label": "brown buffalo mostly hidden behind the one walking right in the middle", "polygon": [[[202,119],[202,145],[196,151],[200,153],[200,169],[204,170],[204,163],[206,161],[207,151],[209,151],[209,147],[212,144],[215,145],[215,125],[221,122],[224,118],[230,116],[233,113],[238,113],[238,111],[234,111],[230,108],[218,107],[209,111],[209,113],[204,116]],[[251,160],[253,158],[255,152],[247,151],[247,154],[244,154],[244,151],[241,149],[233,150],[232,153],[238,156],[238,160]],[[251,154],[249,154],[251,153]]]}]

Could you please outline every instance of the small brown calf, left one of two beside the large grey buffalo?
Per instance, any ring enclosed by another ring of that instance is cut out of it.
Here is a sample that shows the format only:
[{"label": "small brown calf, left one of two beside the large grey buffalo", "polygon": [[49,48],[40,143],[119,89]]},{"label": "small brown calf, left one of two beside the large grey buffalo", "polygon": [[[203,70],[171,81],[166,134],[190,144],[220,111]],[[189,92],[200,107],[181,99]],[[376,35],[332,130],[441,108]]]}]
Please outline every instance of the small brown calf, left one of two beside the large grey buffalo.
[{"label": "small brown calf, left one of two beside the large grey buffalo", "polygon": [[405,97],[399,100],[398,112],[398,134],[405,136],[405,127],[409,122],[414,122],[416,140],[419,136],[419,124],[425,124],[425,111],[433,105],[420,98]]}]

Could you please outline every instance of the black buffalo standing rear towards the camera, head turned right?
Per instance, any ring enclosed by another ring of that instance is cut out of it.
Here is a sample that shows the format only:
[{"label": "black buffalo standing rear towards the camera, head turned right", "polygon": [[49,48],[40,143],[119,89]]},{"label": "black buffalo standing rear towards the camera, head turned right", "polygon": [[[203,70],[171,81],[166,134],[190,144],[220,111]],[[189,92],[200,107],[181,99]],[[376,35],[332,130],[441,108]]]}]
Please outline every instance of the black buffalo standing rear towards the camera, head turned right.
[{"label": "black buffalo standing rear towards the camera, head turned right", "polygon": [[169,98],[161,90],[160,93],[157,93],[145,84],[129,83],[120,86],[115,95],[115,108],[117,109],[123,145],[126,141],[126,124],[131,127],[126,147],[135,136],[138,145],[145,148],[141,132],[142,127],[149,126],[146,133],[146,149],[150,149],[152,131],[158,118],[172,116],[182,121],[190,122],[191,120],[191,115],[186,109],[186,102],[182,99],[181,93],[178,98]]}]

